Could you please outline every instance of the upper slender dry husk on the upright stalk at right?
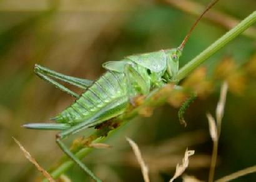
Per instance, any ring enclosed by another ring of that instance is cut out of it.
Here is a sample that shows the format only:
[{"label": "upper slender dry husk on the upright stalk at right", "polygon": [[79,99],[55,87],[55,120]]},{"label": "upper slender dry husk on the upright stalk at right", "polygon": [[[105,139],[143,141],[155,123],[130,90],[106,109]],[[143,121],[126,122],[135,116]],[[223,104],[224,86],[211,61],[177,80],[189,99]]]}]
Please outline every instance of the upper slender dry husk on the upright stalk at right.
[{"label": "upper slender dry husk on the upright stalk at right", "polygon": [[222,87],[220,89],[220,100],[216,107],[216,120],[217,120],[217,127],[218,127],[218,137],[220,136],[220,130],[221,130],[221,121],[224,115],[224,108],[225,108],[225,102],[227,97],[227,89],[229,88],[229,85],[227,82],[224,82],[222,84]]}]

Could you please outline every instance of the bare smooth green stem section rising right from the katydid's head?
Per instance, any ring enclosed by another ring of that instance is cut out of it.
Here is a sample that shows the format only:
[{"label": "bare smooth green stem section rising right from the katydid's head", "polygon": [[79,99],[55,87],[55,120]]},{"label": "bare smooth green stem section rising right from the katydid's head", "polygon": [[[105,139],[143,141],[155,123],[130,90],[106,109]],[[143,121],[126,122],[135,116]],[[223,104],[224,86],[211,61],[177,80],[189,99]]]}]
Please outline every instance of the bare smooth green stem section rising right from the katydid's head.
[{"label": "bare smooth green stem section rising right from the katydid's head", "polygon": [[190,72],[199,67],[205,60],[207,60],[211,55],[213,55],[217,50],[221,49],[232,41],[239,34],[248,29],[252,24],[256,22],[256,11],[252,12],[249,16],[247,16],[243,21],[241,21],[237,26],[231,29],[229,32],[224,34],[224,36],[220,37],[217,41],[215,41],[212,45],[207,47],[203,52],[197,55],[194,59],[188,62],[182,69],[179,70],[177,77],[175,80],[184,79]]}]

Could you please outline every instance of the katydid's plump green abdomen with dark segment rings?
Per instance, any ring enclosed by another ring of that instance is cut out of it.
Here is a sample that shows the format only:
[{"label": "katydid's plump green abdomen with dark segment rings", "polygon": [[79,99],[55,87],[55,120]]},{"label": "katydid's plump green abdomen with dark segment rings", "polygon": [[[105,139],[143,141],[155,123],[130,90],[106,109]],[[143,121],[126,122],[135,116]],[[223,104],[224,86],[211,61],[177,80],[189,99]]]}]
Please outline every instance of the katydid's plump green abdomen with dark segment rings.
[{"label": "katydid's plump green abdomen with dark segment rings", "polygon": [[107,103],[123,95],[127,95],[124,74],[108,71],[54,119],[56,122],[71,124],[83,122]]}]

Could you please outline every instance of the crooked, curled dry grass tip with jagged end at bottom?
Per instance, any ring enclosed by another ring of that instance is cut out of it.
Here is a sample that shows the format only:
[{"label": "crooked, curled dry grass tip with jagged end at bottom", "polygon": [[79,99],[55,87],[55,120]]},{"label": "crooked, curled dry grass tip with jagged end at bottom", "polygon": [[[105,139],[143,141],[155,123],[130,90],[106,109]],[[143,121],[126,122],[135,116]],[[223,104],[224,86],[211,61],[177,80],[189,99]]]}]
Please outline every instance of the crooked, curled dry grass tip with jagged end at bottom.
[{"label": "crooked, curled dry grass tip with jagged end at bottom", "polygon": [[177,164],[176,171],[172,179],[170,179],[169,182],[174,181],[176,178],[178,178],[182,173],[184,173],[185,169],[189,166],[189,156],[194,155],[194,150],[186,150],[184,158],[182,159],[182,165]]}]

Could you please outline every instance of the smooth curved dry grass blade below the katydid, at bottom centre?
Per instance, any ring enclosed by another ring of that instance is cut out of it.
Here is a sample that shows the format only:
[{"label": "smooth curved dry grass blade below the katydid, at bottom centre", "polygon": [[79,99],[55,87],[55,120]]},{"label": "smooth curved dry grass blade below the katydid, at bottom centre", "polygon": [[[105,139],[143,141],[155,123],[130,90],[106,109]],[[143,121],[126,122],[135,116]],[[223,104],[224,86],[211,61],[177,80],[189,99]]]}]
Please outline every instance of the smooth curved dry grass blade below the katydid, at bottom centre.
[{"label": "smooth curved dry grass blade below the katydid, at bottom centre", "polygon": [[130,146],[132,147],[132,150],[134,151],[137,161],[139,162],[144,181],[149,182],[150,181],[149,180],[149,169],[145,165],[145,162],[144,162],[142,155],[140,153],[140,150],[139,150],[139,146],[128,137],[126,137],[126,140],[129,142]]}]

